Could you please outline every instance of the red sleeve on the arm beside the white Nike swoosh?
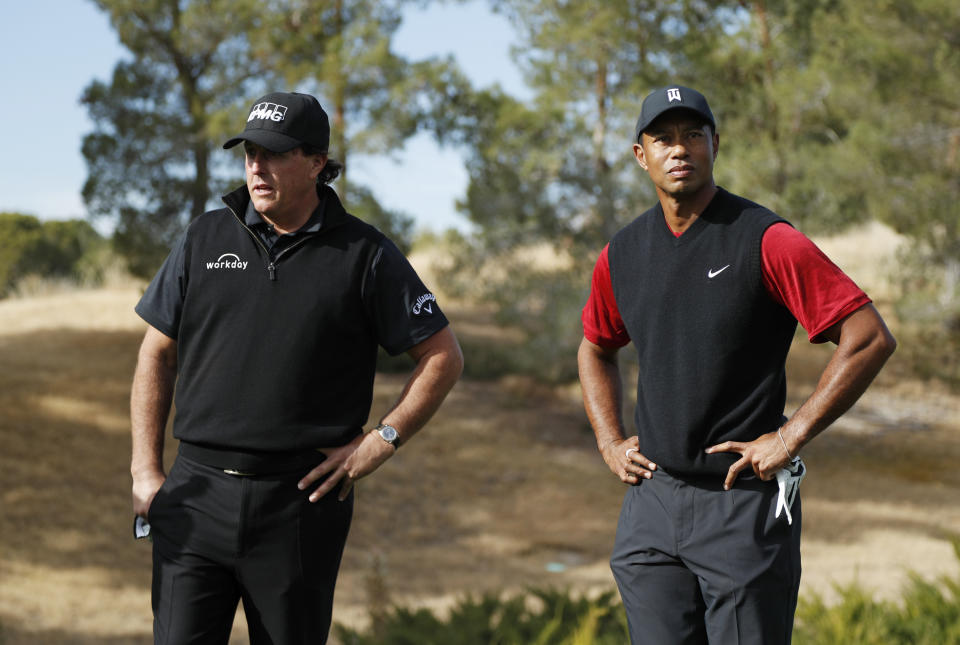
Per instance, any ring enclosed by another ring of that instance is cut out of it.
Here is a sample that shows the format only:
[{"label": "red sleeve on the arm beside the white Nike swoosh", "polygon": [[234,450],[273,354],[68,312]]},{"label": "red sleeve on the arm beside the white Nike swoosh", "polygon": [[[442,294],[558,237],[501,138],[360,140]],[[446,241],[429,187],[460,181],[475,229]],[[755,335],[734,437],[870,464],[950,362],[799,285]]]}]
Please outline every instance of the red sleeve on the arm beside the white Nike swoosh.
[{"label": "red sleeve on the arm beside the white Nike swoosh", "polygon": [[807,330],[812,343],[870,302],[870,298],[810,239],[788,224],[774,224],[761,242],[763,284]]}]

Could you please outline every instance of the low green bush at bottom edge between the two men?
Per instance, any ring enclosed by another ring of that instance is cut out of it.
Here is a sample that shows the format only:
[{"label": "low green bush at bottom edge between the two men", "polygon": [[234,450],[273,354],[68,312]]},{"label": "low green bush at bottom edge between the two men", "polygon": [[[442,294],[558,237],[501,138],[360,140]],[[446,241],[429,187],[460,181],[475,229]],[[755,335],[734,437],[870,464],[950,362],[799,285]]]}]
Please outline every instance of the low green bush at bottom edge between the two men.
[{"label": "low green bush at bottom edge between the two men", "polygon": [[337,624],[344,645],[623,645],[626,618],[614,592],[596,598],[534,589],[467,597],[446,619],[426,609],[374,613],[367,631]]}]

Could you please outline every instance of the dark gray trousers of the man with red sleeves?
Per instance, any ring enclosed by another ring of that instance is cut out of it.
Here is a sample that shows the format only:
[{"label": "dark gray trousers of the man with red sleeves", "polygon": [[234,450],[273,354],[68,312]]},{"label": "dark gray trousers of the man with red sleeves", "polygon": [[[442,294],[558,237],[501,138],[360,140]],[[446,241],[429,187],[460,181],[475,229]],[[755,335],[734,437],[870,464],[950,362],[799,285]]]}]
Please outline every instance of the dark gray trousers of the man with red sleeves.
[{"label": "dark gray trousers of the man with red sleeves", "polygon": [[774,517],[777,482],[752,474],[630,487],[610,564],[633,645],[787,645],[800,587],[800,496]]}]

